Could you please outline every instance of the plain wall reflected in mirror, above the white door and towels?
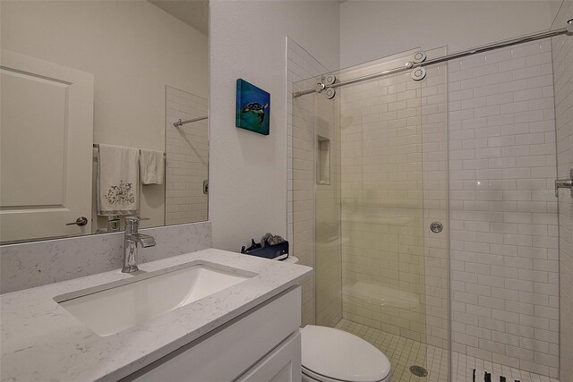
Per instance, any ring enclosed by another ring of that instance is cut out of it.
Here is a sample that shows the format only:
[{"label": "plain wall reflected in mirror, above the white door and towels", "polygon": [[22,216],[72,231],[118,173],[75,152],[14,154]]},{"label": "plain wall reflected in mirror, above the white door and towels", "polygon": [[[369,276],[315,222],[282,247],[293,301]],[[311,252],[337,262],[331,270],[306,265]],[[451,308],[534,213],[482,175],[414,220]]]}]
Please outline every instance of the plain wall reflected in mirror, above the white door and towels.
[{"label": "plain wall reflected in mirror, above the white door and towels", "polygon": [[[95,75],[95,143],[163,151],[165,86],[208,96],[207,36],[147,1],[2,2],[1,44]],[[144,226],[163,225],[164,199],[146,186]]]}]

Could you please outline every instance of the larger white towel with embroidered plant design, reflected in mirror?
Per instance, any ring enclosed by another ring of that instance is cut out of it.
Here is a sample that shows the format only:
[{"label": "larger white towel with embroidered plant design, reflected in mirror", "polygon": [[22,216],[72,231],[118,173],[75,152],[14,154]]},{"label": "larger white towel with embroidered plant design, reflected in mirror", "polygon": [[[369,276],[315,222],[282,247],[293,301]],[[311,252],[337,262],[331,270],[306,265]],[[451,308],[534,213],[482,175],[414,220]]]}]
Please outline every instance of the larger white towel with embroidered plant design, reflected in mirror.
[{"label": "larger white towel with embroidered plant design, reflected in mirror", "polygon": [[137,215],[139,149],[99,145],[98,215]]}]

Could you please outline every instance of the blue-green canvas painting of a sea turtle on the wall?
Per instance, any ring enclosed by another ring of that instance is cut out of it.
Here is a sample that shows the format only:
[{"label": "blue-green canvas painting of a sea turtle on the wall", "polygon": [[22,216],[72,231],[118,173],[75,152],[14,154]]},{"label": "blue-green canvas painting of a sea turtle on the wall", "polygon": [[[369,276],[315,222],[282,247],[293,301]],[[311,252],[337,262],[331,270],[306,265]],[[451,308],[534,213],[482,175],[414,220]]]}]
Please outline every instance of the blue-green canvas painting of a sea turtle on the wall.
[{"label": "blue-green canvas painting of a sea turtle on the wall", "polygon": [[269,135],[270,94],[247,81],[236,81],[236,127]]}]

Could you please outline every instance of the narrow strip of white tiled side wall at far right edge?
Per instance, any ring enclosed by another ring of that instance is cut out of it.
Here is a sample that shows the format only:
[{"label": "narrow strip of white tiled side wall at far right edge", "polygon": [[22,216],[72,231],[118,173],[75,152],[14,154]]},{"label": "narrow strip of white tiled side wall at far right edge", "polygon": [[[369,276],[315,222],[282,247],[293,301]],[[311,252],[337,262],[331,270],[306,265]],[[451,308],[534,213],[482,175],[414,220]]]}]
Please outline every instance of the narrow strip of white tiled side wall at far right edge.
[{"label": "narrow strip of white tiled side wall at far right edge", "polygon": [[[573,17],[573,1],[564,1],[554,28]],[[573,38],[552,38],[557,176],[569,178],[573,168]],[[573,199],[559,194],[560,236],[560,381],[573,382]]]}]

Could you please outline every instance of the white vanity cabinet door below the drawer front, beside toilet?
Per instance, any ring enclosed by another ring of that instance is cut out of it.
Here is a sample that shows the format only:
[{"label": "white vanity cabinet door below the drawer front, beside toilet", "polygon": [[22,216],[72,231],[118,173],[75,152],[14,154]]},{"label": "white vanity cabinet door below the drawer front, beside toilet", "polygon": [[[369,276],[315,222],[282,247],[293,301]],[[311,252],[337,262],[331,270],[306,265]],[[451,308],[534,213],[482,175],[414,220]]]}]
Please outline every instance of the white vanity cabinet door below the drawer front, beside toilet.
[{"label": "white vanity cabinet door below the drawer front, beside toilet", "polygon": [[298,331],[238,378],[240,382],[300,382],[301,335]]}]

